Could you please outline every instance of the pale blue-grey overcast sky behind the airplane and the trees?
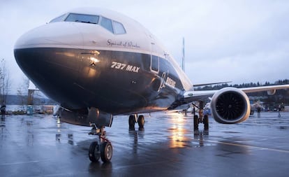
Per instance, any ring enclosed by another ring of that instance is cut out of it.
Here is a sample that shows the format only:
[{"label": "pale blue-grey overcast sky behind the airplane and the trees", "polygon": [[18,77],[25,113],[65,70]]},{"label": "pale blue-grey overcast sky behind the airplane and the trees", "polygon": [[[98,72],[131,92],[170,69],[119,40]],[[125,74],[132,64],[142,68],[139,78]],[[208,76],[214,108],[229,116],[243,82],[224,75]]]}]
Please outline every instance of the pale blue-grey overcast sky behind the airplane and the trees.
[{"label": "pale blue-grey overcast sky behind the airplane and the trees", "polygon": [[289,1],[0,1],[0,59],[13,87],[23,73],[13,46],[22,34],[72,8],[96,6],[124,13],[149,29],[177,62],[182,38],[192,83],[274,82],[289,78]]}]

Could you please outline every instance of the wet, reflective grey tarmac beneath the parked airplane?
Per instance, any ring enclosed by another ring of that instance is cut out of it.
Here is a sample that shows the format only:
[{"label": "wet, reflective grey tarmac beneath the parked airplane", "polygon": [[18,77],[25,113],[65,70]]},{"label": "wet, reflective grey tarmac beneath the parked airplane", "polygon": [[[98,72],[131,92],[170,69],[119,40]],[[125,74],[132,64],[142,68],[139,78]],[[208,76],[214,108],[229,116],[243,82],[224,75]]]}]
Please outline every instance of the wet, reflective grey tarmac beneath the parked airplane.
[{"label": "wet, reflective grey tarmac beneath the parked airplane", "polygon": [[209,132],[178,113],[146,116],[128,131],[128,116],[106,128],[112,162],[91,163],[89,127],[52,115],[8,115],[0,125],[0,176],[288,176],[289,113],[261,113],[238,125],[209,118]]}]

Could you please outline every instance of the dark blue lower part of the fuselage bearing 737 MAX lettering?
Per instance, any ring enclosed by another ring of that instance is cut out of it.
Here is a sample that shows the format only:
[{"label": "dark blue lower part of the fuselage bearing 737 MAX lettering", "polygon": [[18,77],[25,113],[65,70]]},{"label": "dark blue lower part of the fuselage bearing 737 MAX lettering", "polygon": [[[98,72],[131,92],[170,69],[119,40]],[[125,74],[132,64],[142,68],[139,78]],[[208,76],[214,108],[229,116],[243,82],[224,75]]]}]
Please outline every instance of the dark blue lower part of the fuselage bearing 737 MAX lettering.
[{"label": "dark blue lower part of the fuselage bearing 737 MAX lettering", "polygon": [[20,68],[48,97],[68,109],[96,107],[107,113],[168,108],[181,80],[167,59],[151,71],[151,55],[71,48],[15,49]]}]

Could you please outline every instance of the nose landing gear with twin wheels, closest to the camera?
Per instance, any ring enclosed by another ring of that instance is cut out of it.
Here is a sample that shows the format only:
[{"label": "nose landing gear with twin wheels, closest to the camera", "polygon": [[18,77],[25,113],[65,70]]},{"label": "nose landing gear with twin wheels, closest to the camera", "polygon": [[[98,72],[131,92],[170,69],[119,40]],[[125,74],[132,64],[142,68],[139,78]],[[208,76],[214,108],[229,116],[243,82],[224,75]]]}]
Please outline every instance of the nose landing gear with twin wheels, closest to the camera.
[{"label": "nose landing gear with twin wheels, closest to the camera", "polygon": [[98,162],[99,158],[103,162],[110,162],[112,159],[112,143],[105,138],[106,132],[104,126],[98,129],[95,124],[91,125],[92,129],[89,134],[98,136],[98,141],[94,141],[89,147],[89,160]]}]

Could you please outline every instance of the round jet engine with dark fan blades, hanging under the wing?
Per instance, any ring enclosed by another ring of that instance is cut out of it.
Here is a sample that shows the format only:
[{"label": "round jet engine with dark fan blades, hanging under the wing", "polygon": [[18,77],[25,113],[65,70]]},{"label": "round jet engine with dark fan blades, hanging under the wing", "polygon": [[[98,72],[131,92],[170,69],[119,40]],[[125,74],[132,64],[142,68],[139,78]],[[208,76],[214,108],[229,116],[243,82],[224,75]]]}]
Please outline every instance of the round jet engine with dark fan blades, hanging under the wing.
[{"label": "round jet engine with dark fan blades, hanging under the wing", "polygon": [[235,87],[225,87],[214,94],[211,101],[216,122],[235,124],[249,118],[251,106],[248,96]]}]

